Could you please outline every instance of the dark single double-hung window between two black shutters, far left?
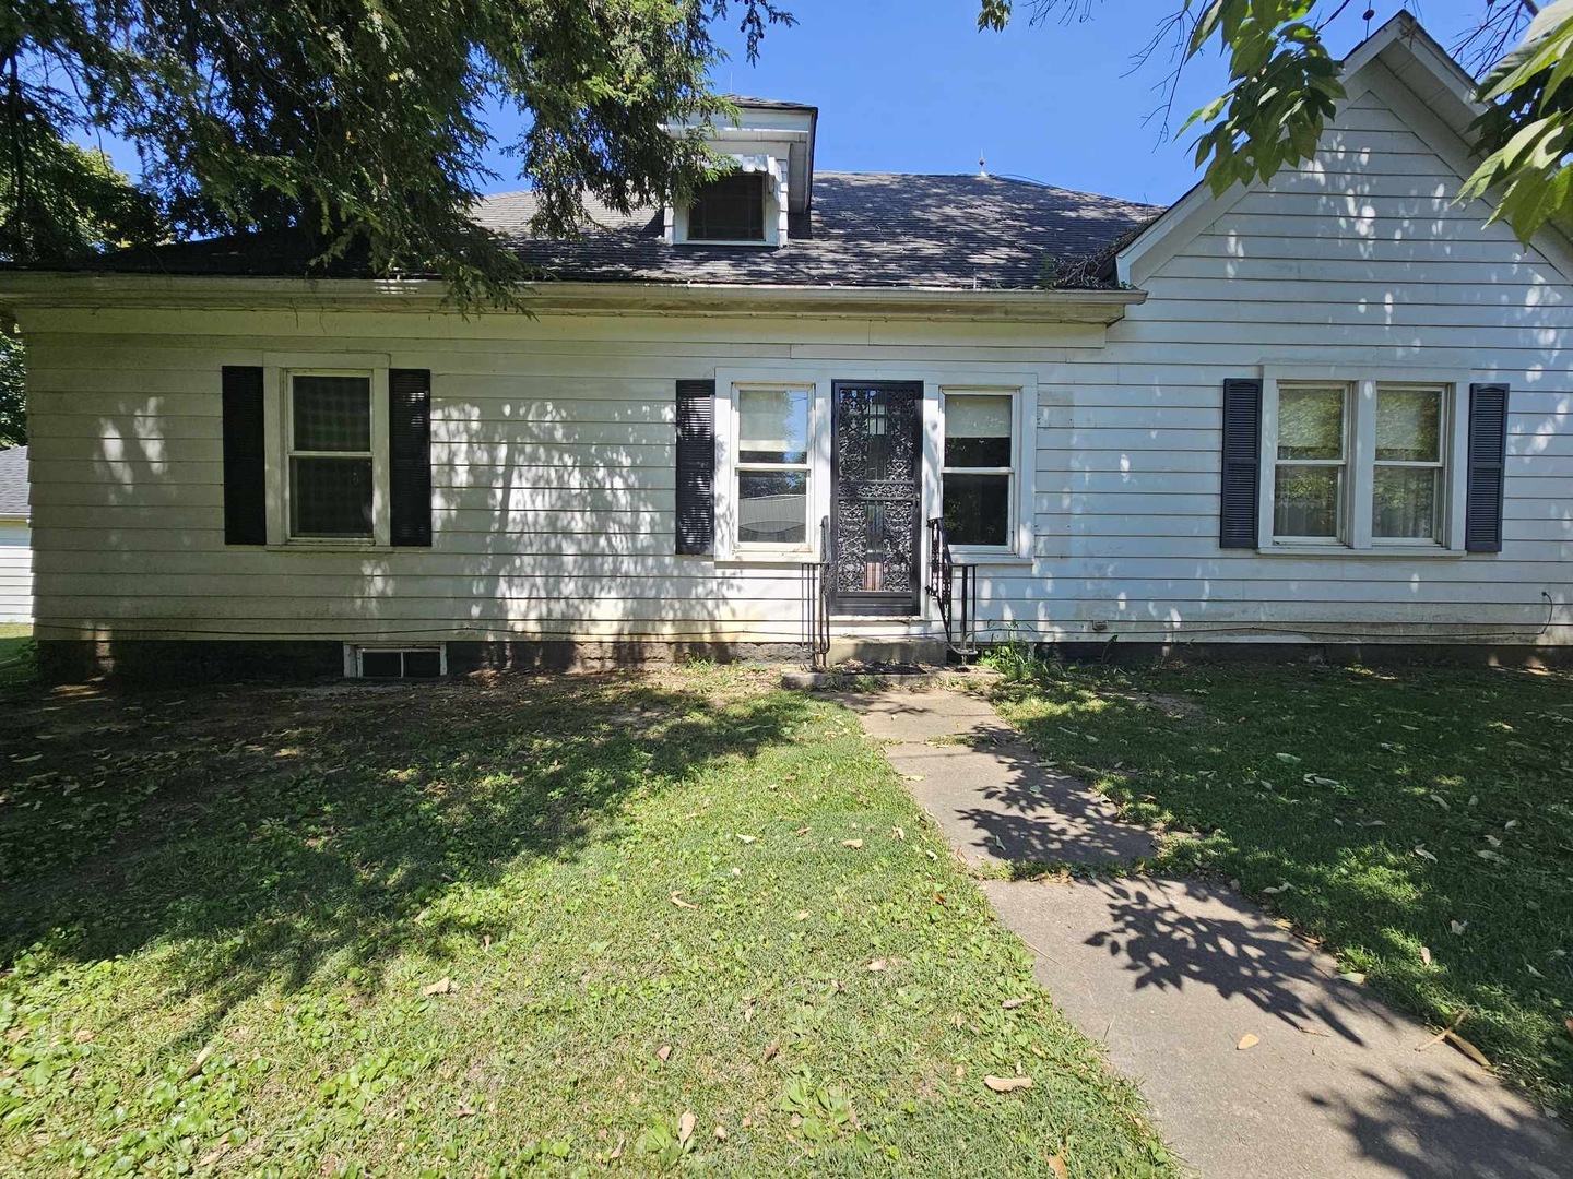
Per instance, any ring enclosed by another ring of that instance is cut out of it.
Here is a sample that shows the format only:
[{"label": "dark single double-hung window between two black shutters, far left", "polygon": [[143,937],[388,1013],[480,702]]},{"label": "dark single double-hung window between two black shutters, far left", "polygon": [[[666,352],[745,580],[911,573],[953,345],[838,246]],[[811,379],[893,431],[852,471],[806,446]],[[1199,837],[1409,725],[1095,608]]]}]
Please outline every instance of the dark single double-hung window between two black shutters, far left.
[{"label": "dark single double-hung window between two black shutters, far left", "polygon": [[289,538],[370,541],[376,476],[370,373],[289,373]]}]

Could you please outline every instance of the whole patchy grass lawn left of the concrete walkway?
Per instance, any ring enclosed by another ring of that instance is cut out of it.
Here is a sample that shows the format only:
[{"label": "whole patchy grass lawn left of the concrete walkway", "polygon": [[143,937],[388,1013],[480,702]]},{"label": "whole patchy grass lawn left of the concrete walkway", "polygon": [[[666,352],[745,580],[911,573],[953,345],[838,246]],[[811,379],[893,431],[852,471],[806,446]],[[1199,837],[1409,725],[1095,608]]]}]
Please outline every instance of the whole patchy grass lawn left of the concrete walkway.
[{"label": "whole patchy grass lawn left of the concrete walkway", "polygon": [[0,1171],[1175,1171],[758,678],[57,692],[0,767]]}]

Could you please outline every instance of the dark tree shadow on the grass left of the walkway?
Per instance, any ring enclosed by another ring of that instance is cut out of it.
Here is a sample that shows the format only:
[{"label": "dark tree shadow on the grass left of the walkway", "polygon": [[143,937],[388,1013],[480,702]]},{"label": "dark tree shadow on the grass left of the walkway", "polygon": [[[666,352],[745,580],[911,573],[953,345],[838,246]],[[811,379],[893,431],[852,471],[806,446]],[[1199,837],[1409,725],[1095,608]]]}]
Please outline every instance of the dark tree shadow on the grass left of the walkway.
[{"label": "dark tree shadow on the grass left of the walkway", "polygon": [[42,750],[0,794],[0,957],[168,946],[206,1005],[193,1039],[329,960],[374,987],[401,953],[500,934],[422,910],[621,838],[628,803],[788,740],[813,707],[602,678],[63,700],[0,731],[0,766]]}]

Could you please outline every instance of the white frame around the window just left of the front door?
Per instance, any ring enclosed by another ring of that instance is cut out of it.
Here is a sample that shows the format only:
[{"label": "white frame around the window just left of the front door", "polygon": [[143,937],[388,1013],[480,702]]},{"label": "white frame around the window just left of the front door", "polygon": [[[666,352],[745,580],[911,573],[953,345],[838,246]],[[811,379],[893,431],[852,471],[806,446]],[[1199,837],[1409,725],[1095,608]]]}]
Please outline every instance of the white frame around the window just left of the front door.
[{"label": "white frame around the window just left of the front door", "polygon": [[[742,391],[794,391],[809,395],[809,454],[801,464],[739,462]],[[829,514],[831,443],[829,382],[790,374],[716,373],[716,560],[763,564],[807,564],[818,560],[820,519]],[[802,544],[744,544],[738,539],[738,473],[744,470],[802,470],[809,475]],[[821,503],[823,501],[823,503]]]}]

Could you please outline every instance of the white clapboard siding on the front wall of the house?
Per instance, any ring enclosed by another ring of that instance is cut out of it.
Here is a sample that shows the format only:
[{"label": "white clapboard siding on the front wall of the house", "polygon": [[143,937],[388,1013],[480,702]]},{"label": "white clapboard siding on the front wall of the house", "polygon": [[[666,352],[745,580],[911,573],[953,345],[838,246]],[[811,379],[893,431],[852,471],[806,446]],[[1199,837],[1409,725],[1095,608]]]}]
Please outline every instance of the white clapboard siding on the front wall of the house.
[{"label": "white clapboard siding on the front wall of the house", "polygon": [[[1413,102],[1391,77],[1361,93],[1317,159],[1134,275],[1148,300],[1106,338],[785,314],[38,313],[39,634],[799,641],[802,567],[673,555],[675,382],[725,368],[1033,374],[1033,560],[983,569],[996,637],[1570,643],[1573,288],[1482,228],[1482,203],[1452,204],[1468,160],[1406,124]],[[431,549],[225,547],[219,369],[269,355],[433,371]],[[1502,552],[1221,550],[1222,382],[1274,362],[1507,380]]]}]

